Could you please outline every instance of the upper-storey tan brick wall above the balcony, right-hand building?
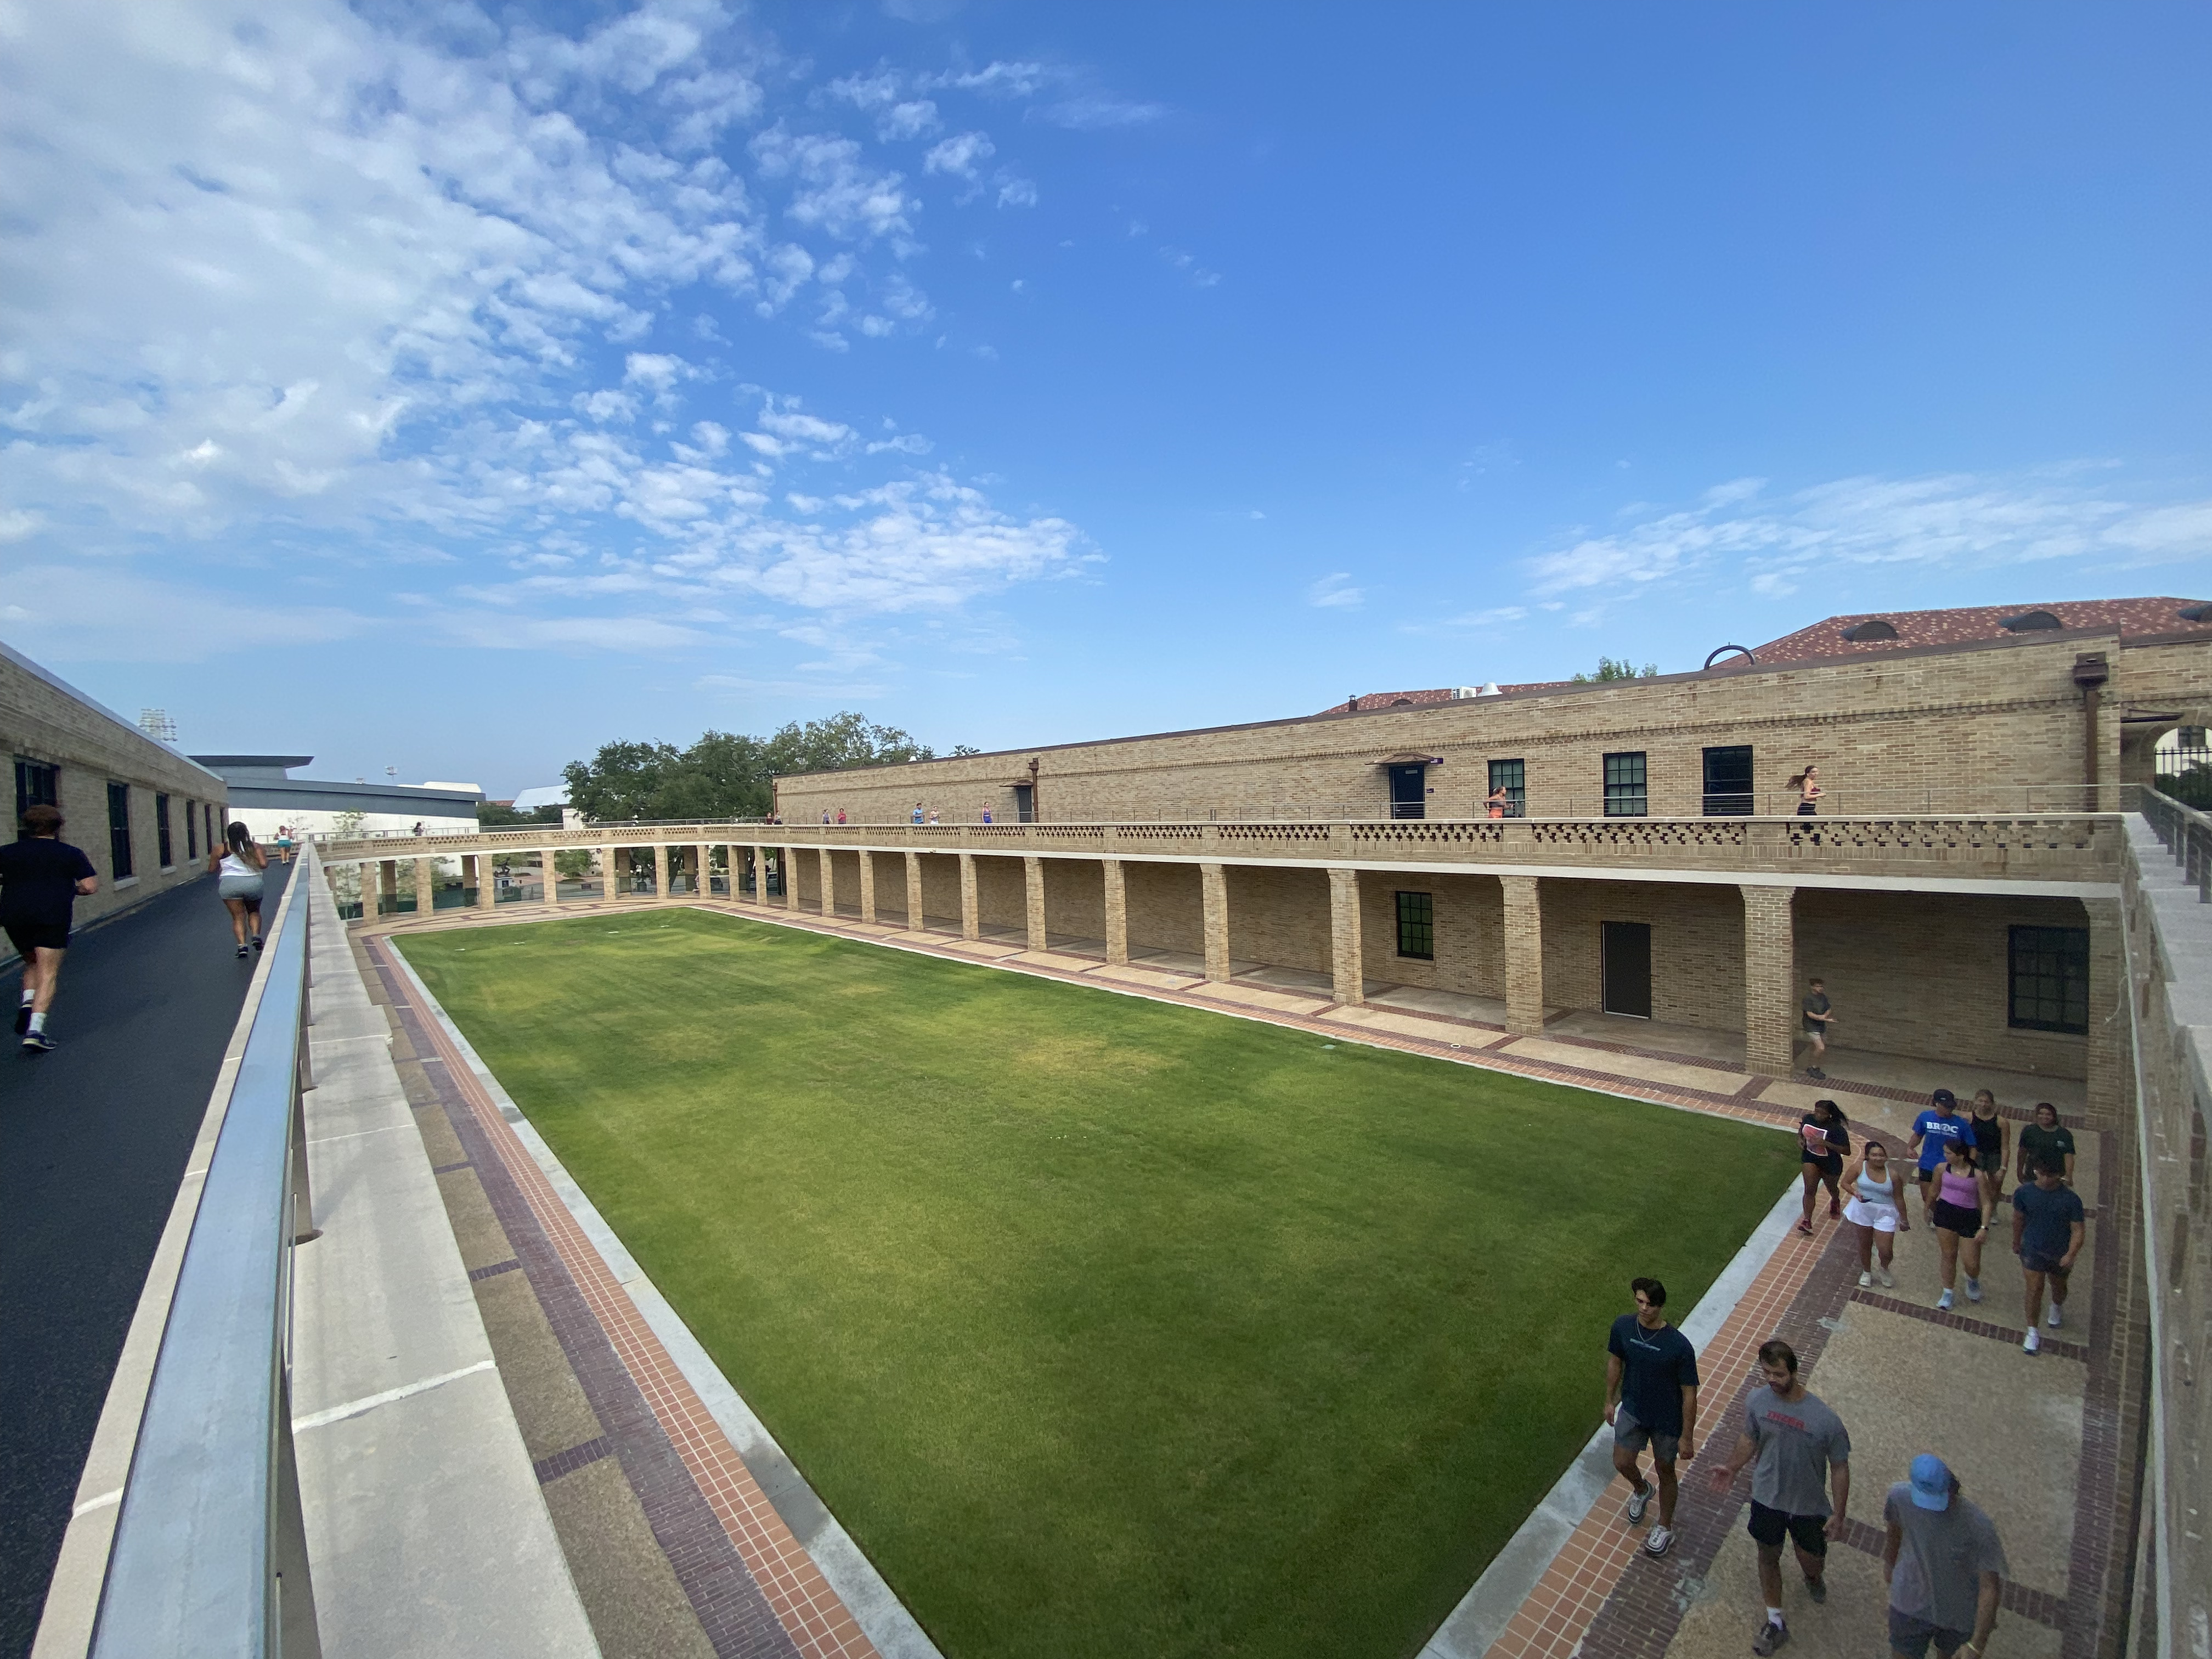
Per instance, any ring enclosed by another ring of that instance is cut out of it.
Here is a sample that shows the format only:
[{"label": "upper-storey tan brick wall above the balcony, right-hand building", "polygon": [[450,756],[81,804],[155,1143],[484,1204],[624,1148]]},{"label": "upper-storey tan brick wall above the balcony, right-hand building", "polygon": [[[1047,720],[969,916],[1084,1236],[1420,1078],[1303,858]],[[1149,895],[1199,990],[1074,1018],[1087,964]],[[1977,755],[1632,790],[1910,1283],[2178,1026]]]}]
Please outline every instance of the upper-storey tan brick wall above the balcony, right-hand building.
[{"label": "upper-storey tan brick wall above the balcony, right-hand building", "polygon": [[[1750,743],[1761,810],[1783,812],[1785,779],[1820,765],[1834,812],[2020,812],[2081,805],[2086,721],[2075,657],[2112,659],[2101,721],[2104,776],[2119,776],[2119,710],[2141,695],[2203,701],[2212,641],[2128,650],[2115,635],[2020,639],[1856,657],[1840,664],[1670,675],[1484,697],[1409,710],[1296,719],[920,761],[783,779],[792,818],[827,805],[905,823],[925,799],[947,823],[991,807],[1011,818],[1013,779],[1040,761],[1046,821],[1206,818],[1270,810],[1387,816],[1380,761],[1433,754],[1431,816],[1478,816],[1486,761],[1522,759],[1533,816],[1601,810],[1604,754],[1648,757],[1657,816],[1703,810],[1708,745]],[[2141,686],[2137,686],[2141,681]],[[2148,692],[2146,692],[2148,688]]]}]

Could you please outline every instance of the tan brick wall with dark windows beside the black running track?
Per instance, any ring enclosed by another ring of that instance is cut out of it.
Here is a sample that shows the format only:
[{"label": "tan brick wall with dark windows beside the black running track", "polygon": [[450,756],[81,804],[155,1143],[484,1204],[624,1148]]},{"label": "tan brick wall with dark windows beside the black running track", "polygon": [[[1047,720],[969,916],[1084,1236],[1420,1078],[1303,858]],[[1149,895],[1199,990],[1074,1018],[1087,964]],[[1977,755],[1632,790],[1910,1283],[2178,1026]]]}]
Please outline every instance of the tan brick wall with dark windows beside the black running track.
[{"label": "tan brick wall with dark windows beside the black running track", "polygon": [[[7,812],[15,812],[13,761],[42,761],[60,770],[60,807],[69,821],[62,841],[82,847],[100,872],[100,891],[77,900],[77,925],[113,916],[206,867],[208,827],[221,841],[226,823],[223,781],[175,750],[155,743],[119,714],[82,692],[33,670],[13,653],[0,653],[0,750],[7,752]],[[115,878],[108,843],[108,783],[131,785],[131,865]],[[170,856],[164,865],[155,801],[168,796]],[[192,825],[186,827],[190,816]],[[15,825],[9,823],[13,838]],[[192,852],[199,852],[195,858]],[[212,898],[208,900],[215,902]]]}]

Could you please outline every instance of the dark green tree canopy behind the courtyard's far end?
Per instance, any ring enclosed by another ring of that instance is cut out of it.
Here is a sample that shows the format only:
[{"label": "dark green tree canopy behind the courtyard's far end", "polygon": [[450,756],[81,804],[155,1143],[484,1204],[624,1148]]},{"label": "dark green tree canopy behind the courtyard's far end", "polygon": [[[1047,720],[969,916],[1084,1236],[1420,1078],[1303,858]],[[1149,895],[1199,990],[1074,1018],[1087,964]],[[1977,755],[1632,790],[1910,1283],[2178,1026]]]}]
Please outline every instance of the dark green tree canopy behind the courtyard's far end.
[{"label": "dark green tree canopy behind the courtyard's far end", "polygon": [[[973,754],[964,743],[953,754]],[[675,743],[606,743],[588,761],[568,761],[568,805],[586,818],[763,818],[770,779],[792,772],[843,772],[854,765],[933,761],[936,750],[867,714],[790,721],[770,737],[701,732]]]}]

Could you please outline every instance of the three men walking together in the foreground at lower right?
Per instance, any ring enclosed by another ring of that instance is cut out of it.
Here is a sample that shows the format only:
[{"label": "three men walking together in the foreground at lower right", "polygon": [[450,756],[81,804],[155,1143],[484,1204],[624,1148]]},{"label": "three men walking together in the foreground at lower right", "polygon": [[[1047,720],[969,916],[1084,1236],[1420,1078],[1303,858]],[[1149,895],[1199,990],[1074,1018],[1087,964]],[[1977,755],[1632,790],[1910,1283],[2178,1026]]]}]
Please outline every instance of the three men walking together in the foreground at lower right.
[{"label": "three men walking together in the foreground at lower right", "polygon": [[[1606,1422],[1613,1467],[1628,1482],[1628,1524],[1659,1506],[1644,1535],[1646,1555],[1674,1546],[1681,1493],[1677,1464],[1697,1455],[1697,1349],[1666,1318],[1666,1285],[1632,1279],[1635,1312],[1613,1321],[1606,1340]],[[1641,1453],[1650,1451],[1650,1475]],[[1743,1420],[1725,1460],[1712,1467],[1712,1491],[1728,1493],[1752,1469],[1747,1531],[1759,1555],[1765,1617],[1752,1652],[1772,1655],[1790,1641],[1783,1613],[1783,1544],[1805,1575],[1814,1606],[1827,1601],[1827,1546],[1851,1506],[1851,1436],[1798,1376],[1798,1356],[1783,1340],[1759,1349],[1759,1385],[1743,1400]],[[1933,1451],[1916,1455],[1907,1478],[1882,1498],[1882,1577],[1889,1586],[1889,1648],[1900,1659],[1966,1655],[1982,1659],[1997,1624],[2004,1546],[1997,1528],[1966,1502],[1951,1467]]]}]

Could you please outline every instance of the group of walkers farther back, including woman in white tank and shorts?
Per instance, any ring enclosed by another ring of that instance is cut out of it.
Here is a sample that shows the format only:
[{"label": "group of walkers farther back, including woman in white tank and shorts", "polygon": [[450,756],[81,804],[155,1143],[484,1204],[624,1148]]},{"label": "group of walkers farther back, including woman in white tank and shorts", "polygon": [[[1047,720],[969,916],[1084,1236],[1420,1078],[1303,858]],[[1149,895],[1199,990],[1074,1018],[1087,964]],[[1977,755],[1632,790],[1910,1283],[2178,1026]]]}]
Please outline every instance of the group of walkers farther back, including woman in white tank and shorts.
[{"label": "group of walkers farther back, including woman in white tank and shorts", "polygon": [[[1958,1110],[1958,1095],[1938,1088],[1929,1106],[1913,1119],[1905,1157],[1893,1157],[1887,1141],[1867,1135],[1854,1150],[1843,1108],[1816,1099],[1798,1124],[1803,1137],[1801,1172],[1805,1181],[1805,1214],[1798,1232],[1812,1234],[1814,1206],[1827,1188],[1827,1212],[1858,1232],[1858,1283],[1891,1290],[1900,1232],[1913,1230],[1913,1212],[1936,1234],[1942,1259],[1942,1294],[1936,1307],[1955,1307],[1960,1276],[1966,1301],[1982,1301],[1982,1250],[1997,1228],[1997,1217],[2011,1208],[2011,1252],[2020,1256],[2026,1305],[2028,1354],[2042,1349],[2037,1323],[2051,1329],[2066,1323],[2066,1285],[2081,1243],[2088,1237],[2088,1212],[2073,1190],[2075,1139],[2059,1121],[2048,1099],[2037,1102],[2035,1121],[2015,1137],[1997,1113],[1997,1099],[1986,1088],[1975,1093],[1973,1108]],[[2011,1206],[2004,1203],[2004,1179],[2013,1175]],[[1907,1190],[1911,1177],[1918,1192]],[[1909,1201],[1918,1197],[1918,1203]],[[2044,1312],[2044,1296],[2051,1307]]]}]

